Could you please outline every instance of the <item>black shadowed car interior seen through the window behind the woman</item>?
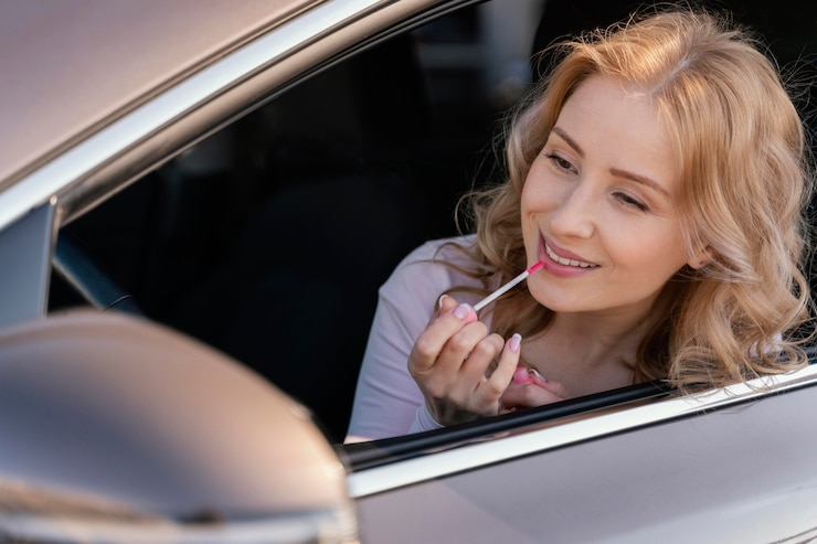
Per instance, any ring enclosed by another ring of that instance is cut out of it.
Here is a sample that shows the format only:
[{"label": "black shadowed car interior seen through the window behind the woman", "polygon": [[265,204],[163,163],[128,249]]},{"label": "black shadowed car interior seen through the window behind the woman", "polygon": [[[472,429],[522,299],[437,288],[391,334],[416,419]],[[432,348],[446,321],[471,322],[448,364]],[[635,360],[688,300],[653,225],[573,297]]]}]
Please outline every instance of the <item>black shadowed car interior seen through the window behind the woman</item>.
[{"label": "black shadowed car interior seen through the window behind the woman", "polygon": [[[635,4],[549,0],[532,49]],[[783,36],[766,11],[745,9]],[[476,8],[433,24],[446,40],[477,39]],[[412,248],[456,234],[457,199],[492,175],[503,105],[473,92],[471,66],[422,67],[422,39],[402,34],[304,82],[61,238],[147,317],[261,373],[341,440],[378,287]],[[782,62],[803,55],[778,40]],[[52,285],[52,309],[83,302]]]}]

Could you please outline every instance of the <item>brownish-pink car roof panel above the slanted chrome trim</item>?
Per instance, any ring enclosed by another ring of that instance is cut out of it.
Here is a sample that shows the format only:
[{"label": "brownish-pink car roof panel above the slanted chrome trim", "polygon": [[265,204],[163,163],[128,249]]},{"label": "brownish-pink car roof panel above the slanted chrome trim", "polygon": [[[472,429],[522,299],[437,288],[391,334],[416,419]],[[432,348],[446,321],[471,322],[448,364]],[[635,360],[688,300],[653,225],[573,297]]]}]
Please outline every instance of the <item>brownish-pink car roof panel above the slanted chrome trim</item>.
[{"label": "brownish-pink car roof panel above the slanted chrome trim", "polygon": [[180,76],[320,2],[0,3],[0,190]]}]

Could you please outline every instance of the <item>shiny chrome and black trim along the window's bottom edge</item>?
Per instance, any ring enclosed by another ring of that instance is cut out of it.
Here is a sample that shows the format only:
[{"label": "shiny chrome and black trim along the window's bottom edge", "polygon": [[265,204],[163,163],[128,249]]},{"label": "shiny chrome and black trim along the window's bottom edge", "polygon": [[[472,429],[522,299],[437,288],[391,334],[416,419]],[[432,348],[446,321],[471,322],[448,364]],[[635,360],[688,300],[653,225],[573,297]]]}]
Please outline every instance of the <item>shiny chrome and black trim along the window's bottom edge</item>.
[{"label": "shiny chrome and black trim along the window's bottom edge", "polygon": [[[606,407],[613,408],[612,412],[603,410],[600,406],[595,410],[597,414],[593,414],[592,417],[576,418],[576,415],[581,415],[579,412],[570,416],[552,417],[552,410],[565,407],[564,403],[559,403],[531,410],[531,422],[526,424],[519,424],[512,416],[500,416],[497,418],[498,422],[503,419],[508,422],[505,431],[484,423],[474,426],[469,439],[458,436],[454,428],[433,431],[439,436],[436,448],[423,444],[427,434],[396,439],[396,444],[403,440],[404,451],[391,459],[388,454],[390,446],[388,440],[368,442],[368,448],[381,448],[384,451],[380,463],[370,451],[364,465],[359,459],[362,455],[356,452],[363,446],[349,445],[346,451],[349,454],[352,472],[347,477],[347,486],[350,497],[362,499],[519,457],[538,455],[704,413],[734,408],[810,386],[817,386],[817,365],[814,364],[789,374],[764,376],[705,393],[672,396],[648,404],[635,399],[624,405],[608,404]],[[613,396],[620,392],[620,390],[613,392]],[[647,396],[641,401],[655,401],[658,396],[661,395]],[[591,413],[585,410],[584,414]],[[412,451],[413,442],[423,447]],[[356,457],[359,459],[357,462]]]}]

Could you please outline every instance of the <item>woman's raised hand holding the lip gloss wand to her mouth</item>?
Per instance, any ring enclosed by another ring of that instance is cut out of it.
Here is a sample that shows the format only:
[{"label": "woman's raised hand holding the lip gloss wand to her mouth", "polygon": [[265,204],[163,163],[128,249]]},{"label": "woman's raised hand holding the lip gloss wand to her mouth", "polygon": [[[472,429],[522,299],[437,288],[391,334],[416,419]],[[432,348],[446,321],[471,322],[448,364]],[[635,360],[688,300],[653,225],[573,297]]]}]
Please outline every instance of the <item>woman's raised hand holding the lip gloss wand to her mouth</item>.
[{"label": "woman's raised hand holding the lip gloss wand to her mouth", "polygon": [[519,362],[520,341],[518,334],[507,342],[499,334],[488,334],[470,306],[443,296],[439,311],[408,355],[408,371],[432,417],[441,425],[453,425],[497,415],[499,398]]}]

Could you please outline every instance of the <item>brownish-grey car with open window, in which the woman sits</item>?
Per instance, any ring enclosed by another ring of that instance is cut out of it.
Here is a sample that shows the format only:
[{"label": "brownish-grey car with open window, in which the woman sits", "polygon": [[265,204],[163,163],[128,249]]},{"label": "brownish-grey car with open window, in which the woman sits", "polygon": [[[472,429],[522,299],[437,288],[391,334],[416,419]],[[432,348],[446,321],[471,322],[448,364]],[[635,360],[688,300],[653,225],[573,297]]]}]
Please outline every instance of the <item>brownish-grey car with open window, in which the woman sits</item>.
[{"label": "brownish-grey car with open window, in which the woman sits", "polygon": [[[815,72],[814,7],[724,4]],[[633,6],[0,4],[0,536],[817,537],[817,365],[342,444],[378,287],[492,179],[533,53]]]}]

